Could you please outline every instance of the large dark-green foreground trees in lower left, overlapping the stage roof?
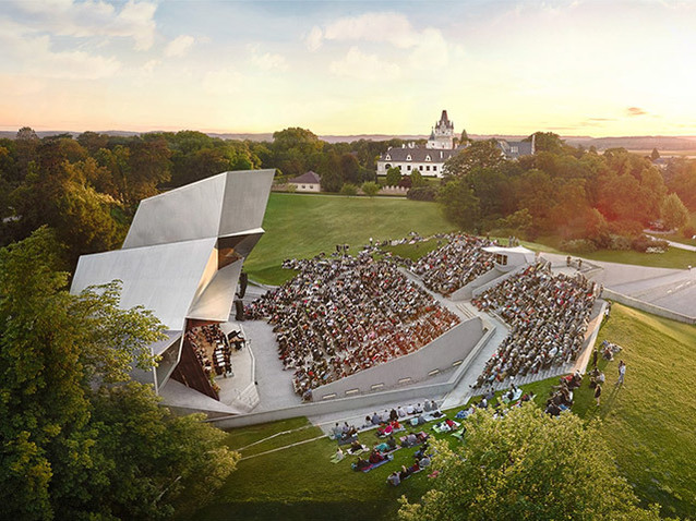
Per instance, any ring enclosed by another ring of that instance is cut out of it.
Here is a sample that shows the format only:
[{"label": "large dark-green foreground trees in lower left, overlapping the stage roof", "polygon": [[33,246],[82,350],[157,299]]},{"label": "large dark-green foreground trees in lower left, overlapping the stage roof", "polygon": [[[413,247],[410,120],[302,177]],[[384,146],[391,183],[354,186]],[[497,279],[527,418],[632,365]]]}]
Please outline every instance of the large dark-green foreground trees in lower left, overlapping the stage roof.
[{"label": "large dark-green foreground trees in lower left, overlapping the stage roof", "polygon": [[237,461],[224,433],[128,384],[152,366],[145,348],[164,327],[121,310],[116,283],[71,295],[59,253],[47,228],[0,250],[2,518],[161,519],[197,506]]}]

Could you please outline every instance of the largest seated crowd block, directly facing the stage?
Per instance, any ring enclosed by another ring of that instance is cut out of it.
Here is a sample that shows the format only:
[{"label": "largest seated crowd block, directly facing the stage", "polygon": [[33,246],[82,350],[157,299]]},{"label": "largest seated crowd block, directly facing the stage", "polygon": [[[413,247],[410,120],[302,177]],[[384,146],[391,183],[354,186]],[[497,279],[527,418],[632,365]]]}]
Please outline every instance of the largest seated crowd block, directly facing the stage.
[{"label": "largest seated crowd block, directly facing the stage", "polygon": [[369,252],[286,260],[298,275],[247,307],[274,326],[298,395],[412,353],[459,318]]}]

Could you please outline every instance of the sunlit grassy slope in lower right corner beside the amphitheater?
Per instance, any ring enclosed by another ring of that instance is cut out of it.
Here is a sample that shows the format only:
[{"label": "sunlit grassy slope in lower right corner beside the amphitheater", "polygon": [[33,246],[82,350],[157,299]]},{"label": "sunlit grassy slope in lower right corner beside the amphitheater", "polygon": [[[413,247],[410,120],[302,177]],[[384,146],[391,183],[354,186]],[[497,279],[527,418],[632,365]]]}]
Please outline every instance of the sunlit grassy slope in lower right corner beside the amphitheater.
[{"label": "sunlit grassy slope in lower right corner beside the amphitheater", "polygon": [[[600,417],[619,468],[646,502],[663,513],[696,517],[696,326],[614,304],[598,341],[624,348],[600,362],[607,383],[601,405],[584,385],[574,411]],[[626,386],[615,390],[617,364],[626,363]]]}]

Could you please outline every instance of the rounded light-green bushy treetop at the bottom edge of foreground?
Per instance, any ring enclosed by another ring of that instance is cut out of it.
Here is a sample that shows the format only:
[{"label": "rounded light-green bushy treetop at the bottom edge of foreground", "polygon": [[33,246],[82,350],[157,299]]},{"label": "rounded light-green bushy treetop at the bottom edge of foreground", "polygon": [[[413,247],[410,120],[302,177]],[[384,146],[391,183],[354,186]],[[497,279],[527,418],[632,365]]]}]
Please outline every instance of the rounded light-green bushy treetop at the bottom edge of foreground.
[{"label": "rounded light-green bushy treetop at the bottom edge of foreground", "polygon": [[403,521],[660,519],[637,507],[597,425],[574,414],[552,419],[531,403],[502,419],[477,411],[463,446],[435,445],[441,473],[420,504],[401,499]]}]

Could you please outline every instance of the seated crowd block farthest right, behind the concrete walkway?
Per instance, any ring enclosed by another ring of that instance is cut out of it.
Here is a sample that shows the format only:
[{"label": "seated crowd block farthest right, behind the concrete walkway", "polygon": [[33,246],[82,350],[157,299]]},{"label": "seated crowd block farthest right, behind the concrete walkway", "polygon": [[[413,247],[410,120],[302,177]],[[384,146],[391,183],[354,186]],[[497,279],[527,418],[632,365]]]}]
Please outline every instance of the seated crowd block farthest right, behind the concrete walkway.
[{"label": "seated crowd block farthest right, behind the concrete walkway", "polygon": [[550,264],[538,263],[472,299],[479,310],[495,312],[511,326],[476,387],[576,360],[597,290],[580,274],[554,276]]}]

